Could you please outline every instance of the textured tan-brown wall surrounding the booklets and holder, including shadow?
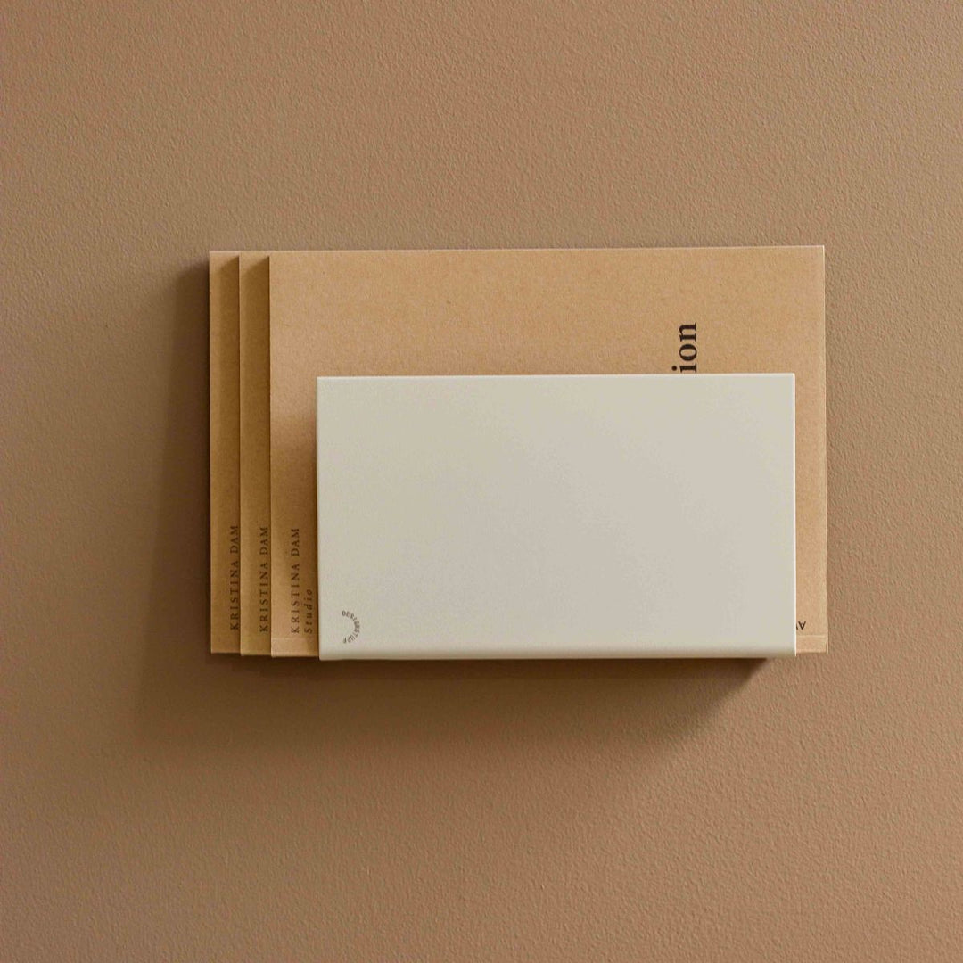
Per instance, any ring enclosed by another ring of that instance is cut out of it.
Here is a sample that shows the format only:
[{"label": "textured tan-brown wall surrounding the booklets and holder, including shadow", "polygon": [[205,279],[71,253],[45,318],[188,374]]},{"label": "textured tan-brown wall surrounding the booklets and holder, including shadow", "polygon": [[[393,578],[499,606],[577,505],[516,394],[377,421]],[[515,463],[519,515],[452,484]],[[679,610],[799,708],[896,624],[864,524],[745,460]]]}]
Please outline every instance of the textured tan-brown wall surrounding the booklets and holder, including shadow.
[{"label": "textured tan-brown wall surrounding the booklets and holder, including shadow", "polygon": [[[960,5],[3,20],[0,958],[958,953]],[[783,243],[827,657],[206,653],[209,248]]]}]

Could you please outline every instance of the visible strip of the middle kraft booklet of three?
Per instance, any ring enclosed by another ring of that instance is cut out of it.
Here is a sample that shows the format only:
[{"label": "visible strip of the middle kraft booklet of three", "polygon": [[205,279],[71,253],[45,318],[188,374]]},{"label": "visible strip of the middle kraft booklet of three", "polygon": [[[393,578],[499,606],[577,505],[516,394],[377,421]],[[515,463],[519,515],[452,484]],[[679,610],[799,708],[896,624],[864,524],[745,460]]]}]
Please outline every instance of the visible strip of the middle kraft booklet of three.
[{"label": "visible strip of the middle kraft booklet of three", "polygon": [[271,654],[271,389],[268,255],[239,265],[241,654]]}]

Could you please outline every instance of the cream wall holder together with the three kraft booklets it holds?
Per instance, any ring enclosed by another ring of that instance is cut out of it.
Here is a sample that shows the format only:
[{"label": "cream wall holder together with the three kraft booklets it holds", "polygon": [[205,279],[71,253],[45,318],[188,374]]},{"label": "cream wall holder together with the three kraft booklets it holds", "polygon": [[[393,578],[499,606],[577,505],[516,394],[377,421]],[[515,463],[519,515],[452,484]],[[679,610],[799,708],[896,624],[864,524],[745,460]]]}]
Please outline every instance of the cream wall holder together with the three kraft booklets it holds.
[{"label": "cream wall holder together with the three kraft booklets it holds", "polygon": [[821,247],[212,252],[210,367],[213,652],[826,650]]}]

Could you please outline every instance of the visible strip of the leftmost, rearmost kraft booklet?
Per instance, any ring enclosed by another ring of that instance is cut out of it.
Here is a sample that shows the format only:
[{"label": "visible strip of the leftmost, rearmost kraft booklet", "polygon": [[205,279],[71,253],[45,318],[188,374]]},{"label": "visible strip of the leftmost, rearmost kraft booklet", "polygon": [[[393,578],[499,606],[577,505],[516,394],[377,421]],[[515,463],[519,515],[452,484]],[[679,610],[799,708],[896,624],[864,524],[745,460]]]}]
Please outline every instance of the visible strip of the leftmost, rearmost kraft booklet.
[{"label": "visible strip of the leftmost, rearmost kraft booklet", "polygon": [[212,251],[209,269],[211,394],[211,651],[241,649],[241,508],[238,255]]}]

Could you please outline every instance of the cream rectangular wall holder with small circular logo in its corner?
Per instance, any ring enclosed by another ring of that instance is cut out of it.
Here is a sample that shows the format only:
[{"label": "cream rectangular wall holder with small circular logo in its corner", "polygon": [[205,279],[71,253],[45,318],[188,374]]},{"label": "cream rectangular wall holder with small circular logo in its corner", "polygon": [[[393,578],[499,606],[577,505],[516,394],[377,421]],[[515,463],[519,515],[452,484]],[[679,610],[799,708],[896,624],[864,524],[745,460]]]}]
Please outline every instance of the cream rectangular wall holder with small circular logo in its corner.
[{"label": "cream rectangular wall holder with small circular logo in its corner", "polygon": [[794,377],[318,378],[322,659],[795,652]]}]

